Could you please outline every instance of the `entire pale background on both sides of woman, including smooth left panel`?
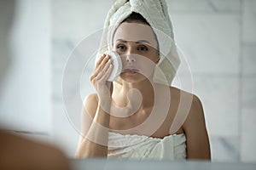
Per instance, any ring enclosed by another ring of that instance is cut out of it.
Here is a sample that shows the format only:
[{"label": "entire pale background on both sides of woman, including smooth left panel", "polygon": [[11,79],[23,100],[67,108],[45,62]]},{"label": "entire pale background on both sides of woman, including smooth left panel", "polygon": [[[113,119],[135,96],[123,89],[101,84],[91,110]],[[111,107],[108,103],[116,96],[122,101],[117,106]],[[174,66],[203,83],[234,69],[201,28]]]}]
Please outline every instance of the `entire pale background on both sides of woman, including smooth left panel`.
[{"label": "entire pale background on both sides of woman, including smooth left panel", "polygon": [[[2,128],[57,144],[75,156],[81,101],[76,102],[80,89],[73,77],[83,68],[64,74],[70,82],[66,103],[61,80],[67,59],[84,37],[97,47],[113,2],[1,0]],[[191,71],[192,93],[204,107],[212,161],[256,162],[256,0],[166,3]],[[189,81],[182,70],[183,65],[179,77]],[[177,78],[173,86],[182,88]],[[84,88],[84,94],[93,90],[89,81]],[[73,109],[67,111],[67,103]]]}]

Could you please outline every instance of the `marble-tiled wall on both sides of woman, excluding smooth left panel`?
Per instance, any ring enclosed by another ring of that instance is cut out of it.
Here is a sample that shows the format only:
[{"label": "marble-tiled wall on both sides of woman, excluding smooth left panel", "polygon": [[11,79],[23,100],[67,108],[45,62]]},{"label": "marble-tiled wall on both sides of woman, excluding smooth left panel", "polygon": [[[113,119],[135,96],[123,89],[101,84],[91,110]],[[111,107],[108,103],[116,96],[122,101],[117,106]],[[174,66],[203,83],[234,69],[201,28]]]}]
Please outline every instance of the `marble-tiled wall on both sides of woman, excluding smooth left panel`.
[{"label": "marble-tiled wall on both sides of woman, excluding smooth left panel", "polygon": [[[79,138],[75,128],[79,127],[80,113],[75,112],[79,105],[71,106],[73,120],[68,122],[61,103],[62,71],[75,45],[102,28],[113,2],[52,3],[53,127],[56,141],[69,156],[74,156]],[[193,93],[204,107],[212,161],[256,161],[256,1],[166,2],[177,45],[192,71]],[[180,72],[180,77],[188,80],[185,65],[181,65]],[[177,79],[174,85],[179,86]],[[78,94],[73,89],[70,94],[75,98]]]}]

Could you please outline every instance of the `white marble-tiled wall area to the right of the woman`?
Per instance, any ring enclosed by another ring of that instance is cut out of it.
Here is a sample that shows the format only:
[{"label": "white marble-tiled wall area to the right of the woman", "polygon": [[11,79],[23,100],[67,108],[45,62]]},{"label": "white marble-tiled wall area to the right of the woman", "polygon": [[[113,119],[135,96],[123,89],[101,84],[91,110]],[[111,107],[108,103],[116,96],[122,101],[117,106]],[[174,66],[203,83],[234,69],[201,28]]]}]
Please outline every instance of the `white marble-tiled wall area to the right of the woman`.
[{"label": "white marble-tiled wall area to the right of the woman", "polygon": [[256,1],[169,1],[215,161],[255,161]]}]

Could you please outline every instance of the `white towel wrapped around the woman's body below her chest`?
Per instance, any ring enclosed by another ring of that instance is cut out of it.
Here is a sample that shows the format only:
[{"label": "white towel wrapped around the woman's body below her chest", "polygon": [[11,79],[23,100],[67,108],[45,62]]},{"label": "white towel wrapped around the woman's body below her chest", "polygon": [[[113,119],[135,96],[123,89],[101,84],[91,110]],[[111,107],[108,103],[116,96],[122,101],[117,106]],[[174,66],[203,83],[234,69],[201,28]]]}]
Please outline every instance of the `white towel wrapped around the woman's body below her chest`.
[{"label": "white towel wrapped around the woman's body below her chest", "polygon": [[172,134],[163,139],[137,134],[109,133],[108,158],[185,160],[184,133]]}]

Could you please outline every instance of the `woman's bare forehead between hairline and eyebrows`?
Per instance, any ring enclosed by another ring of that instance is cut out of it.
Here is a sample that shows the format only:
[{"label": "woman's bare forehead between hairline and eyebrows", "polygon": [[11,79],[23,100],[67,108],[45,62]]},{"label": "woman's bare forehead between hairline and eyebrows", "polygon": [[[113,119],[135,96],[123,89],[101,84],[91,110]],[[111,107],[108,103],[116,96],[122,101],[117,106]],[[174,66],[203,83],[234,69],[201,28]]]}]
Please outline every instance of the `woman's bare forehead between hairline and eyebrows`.
[{"label": "woman's bare forehead between hairline and eyebrows", "polygon": [[119,39],[131,42],[146,40],[153,47],[157,47],[157,40],[152,28],[141,23],[124,22],[120,24],[113,35],[113,42]]}]

